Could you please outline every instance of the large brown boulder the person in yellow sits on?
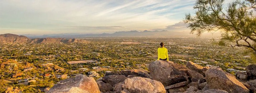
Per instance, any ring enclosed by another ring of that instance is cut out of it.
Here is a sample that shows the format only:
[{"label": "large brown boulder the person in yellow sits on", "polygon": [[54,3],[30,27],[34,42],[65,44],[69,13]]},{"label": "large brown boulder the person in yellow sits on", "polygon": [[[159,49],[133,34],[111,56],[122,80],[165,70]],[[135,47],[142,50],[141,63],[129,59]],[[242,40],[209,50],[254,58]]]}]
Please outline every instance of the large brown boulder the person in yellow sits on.
[{"label": "large brown boulder the person in yellow sits on", "polygon": [[149,65],[152,79],[161,82],[164,86],[189,81],[188,70],[183,65],[164,60],[156,60]]}]

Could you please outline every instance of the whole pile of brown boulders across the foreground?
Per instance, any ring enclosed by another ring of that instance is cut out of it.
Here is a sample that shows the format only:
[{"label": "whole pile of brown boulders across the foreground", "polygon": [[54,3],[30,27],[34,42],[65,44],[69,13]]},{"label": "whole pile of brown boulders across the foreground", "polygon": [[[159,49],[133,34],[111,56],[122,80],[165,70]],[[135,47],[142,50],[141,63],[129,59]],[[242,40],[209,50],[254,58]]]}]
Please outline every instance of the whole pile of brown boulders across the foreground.
[{"label": "whole pile of brown boulders across the foreground", "polygon": [[185,66],[156,60],[149,70],[109,72],[98,80],[77,75],[58,82],[48,93],[256,93],[255,64],[237,78],[219,67],[190,61]]}]

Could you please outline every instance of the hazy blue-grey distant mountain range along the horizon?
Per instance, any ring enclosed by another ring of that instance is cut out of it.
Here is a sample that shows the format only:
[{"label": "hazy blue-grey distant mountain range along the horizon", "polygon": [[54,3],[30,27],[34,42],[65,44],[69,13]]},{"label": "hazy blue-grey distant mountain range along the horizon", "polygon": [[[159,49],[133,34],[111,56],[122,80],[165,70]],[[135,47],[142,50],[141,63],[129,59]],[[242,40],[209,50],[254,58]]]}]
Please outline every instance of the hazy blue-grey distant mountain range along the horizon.
[{"label": "hazy blue-grey distant mountain range along the horizon", "polygon": [[[136,36],[149,36],[149,37],[169,37],[169,36],[185,36],[185,37],[195,37],[189,33],[189,31],[117,31],[115,33],[102,33],[102,34],[78,34],[78,33],[67,33],[67,34],[46,34],[46,35],[32,35],[32,34],[22,34],[24,36],[28,36],[29,38],[82,38],[82,37],[102,37],[102,36],[129,36],[129,37],[136,37]],[[211,34],[207,34],[207,36],[211,36]],[[216,36],[216,35],[212,35]]]}]

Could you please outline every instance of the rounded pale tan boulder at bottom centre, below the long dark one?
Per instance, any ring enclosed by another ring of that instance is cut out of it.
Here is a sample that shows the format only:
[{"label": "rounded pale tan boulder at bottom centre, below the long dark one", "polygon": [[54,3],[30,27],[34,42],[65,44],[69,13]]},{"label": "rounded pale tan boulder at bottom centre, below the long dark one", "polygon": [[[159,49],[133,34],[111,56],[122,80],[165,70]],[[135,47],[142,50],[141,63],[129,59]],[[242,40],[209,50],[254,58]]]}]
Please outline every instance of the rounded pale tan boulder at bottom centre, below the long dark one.
[{"label": "rounded pale tan boulder at bottom centre, below the long dark one", "polygon": [[114,91],[119,92],[120,89],[123,89],[122,93],[166,93],[161,82],[143,77],[125,79],[123,83],[115,86]]}]

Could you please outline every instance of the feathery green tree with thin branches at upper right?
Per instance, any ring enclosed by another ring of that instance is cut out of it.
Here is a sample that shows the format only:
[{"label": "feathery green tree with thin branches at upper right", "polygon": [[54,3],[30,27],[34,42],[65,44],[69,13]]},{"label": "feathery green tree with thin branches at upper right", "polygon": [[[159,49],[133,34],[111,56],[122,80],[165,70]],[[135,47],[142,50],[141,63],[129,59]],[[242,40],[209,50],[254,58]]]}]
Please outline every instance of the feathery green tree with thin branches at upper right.
[{"label": "feathery green tree with thin branches at upper right", "polygon": [[224,0],[197,0],[195,16],[185,15],[184,23],[197,36],[205,31],[221,31],[217,44],[244,46],[256,56],[256,0],[234,0],[224,5]]}]

